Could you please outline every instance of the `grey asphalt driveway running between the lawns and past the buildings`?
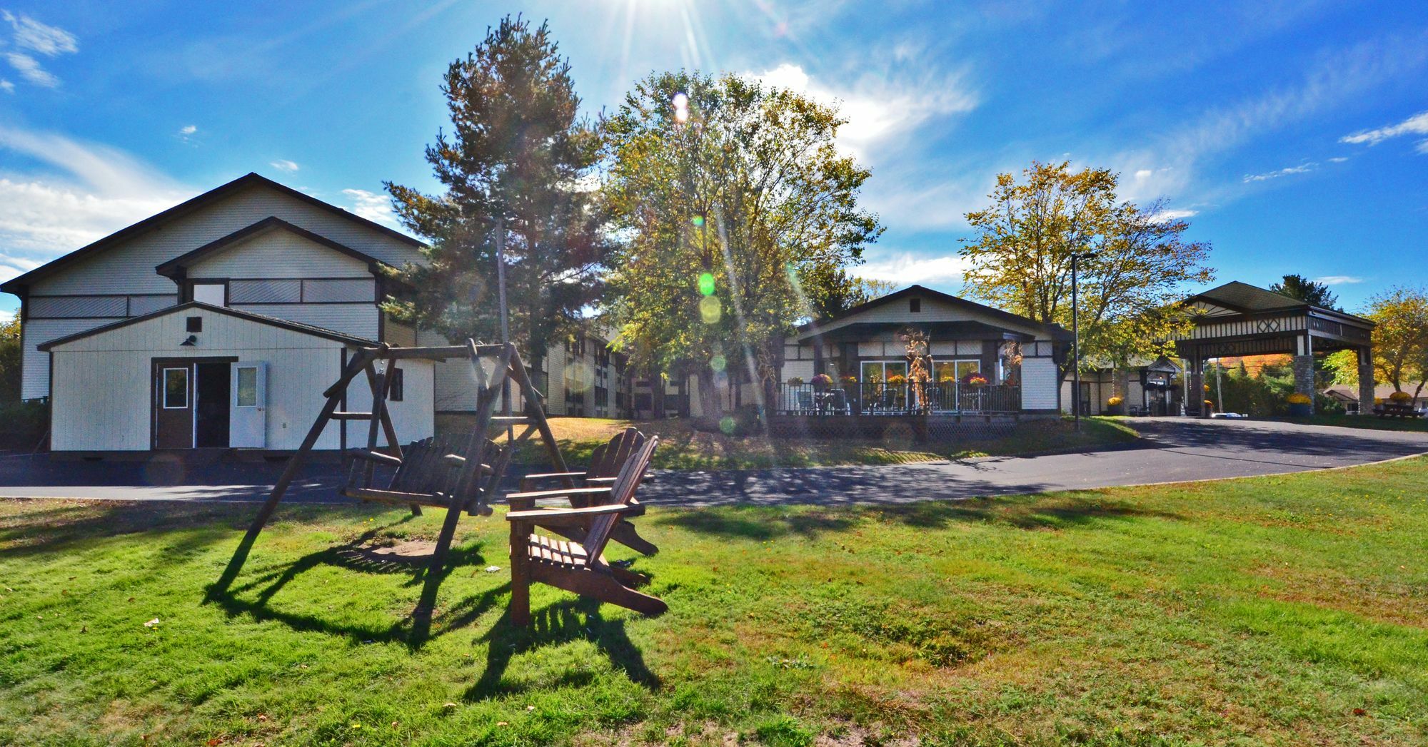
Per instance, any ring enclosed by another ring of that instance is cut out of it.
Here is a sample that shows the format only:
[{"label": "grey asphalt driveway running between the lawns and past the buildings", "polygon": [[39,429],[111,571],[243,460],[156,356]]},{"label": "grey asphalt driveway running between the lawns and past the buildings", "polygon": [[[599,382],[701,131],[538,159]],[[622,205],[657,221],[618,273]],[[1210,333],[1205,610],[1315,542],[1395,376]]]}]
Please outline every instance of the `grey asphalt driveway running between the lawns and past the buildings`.
[{"label": "grey asphalt driveway running between the lawns and past the buildings", "polygon": [[[1242,478],[1428,452],[1428,433],[1258,421],[1137,419],[1145,438],[1097,450],[898,466],[670,472],[641,489],[660,505],[898,503]],[[263,500],[281,463],[50,462],[0,458],[0,498]],[[338,502],[334,465],[313,465],[287,500]]]}]

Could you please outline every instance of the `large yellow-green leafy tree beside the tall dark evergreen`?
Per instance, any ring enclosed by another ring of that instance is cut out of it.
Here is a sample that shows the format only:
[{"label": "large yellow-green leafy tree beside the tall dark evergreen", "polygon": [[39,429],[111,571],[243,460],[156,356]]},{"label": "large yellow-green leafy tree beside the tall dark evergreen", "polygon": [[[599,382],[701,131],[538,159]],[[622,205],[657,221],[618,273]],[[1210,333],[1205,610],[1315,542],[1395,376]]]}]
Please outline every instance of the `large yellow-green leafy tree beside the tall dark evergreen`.
[{"label": "large yellow-green leafy tree beside the tall dark evergreen", "polygon": [[693,371],[707,418],[721,371],[773,376],[775,341],[808,315],[800,281],[881,232],[858,205],[868,171],[834,145],[843,123],[797,93],[698,73],[641,80],[605,121],[618,344]]}]

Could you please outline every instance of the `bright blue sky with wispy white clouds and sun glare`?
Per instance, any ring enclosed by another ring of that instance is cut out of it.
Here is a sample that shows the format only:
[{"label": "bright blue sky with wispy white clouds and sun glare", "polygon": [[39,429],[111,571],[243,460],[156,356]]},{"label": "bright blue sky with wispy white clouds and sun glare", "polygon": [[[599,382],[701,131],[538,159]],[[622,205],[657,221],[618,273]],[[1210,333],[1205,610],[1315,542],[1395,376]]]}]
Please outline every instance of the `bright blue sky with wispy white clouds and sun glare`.
[{"label": "bright blue sky with wispy white clouds and sun glare", "polygon": [[1325,278],[1351,311],[1425,282],[1428,4],[1085,6],[0,0],[0,279],[248,171],[391,221],[383,180],[433,187],[446,64],[520,11],[591,114],[678,67],[840,103],[870,277],[958,292],[962,214],[1065,158],[1170,200],[1221,281]]}]

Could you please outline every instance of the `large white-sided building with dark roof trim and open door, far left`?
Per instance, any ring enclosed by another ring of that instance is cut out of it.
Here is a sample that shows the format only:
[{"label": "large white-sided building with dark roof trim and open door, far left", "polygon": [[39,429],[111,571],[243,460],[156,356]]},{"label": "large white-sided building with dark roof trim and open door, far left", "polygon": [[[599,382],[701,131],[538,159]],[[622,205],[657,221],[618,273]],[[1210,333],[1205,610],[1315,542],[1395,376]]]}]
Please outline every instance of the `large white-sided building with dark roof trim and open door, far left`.
[{"label": "large white-sided building with dark roof trim and open door, far left", "polygon": [[[51,399],[56,452],[296,448],[354,349],[416,344],[378,302],[381,268],[420,249],[248,174],[0,285],[21,299],[21,396]],[[437,374],[401,378],[398,435],[430,436]]]}]

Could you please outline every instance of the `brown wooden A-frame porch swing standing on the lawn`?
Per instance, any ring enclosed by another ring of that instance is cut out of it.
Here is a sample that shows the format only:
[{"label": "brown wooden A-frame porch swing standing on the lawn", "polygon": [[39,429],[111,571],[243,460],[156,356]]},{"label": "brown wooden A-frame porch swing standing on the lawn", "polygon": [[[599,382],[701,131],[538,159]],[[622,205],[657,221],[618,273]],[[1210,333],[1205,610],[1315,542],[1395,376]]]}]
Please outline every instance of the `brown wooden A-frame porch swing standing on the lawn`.
[{"label": "brown wooden A-frame porch swing standing on the lawn", "polygon": [[[418,441],[403,450],[387,408],[394,379],[391,376],[393,366],[398,361],[447,361],[453,358],[467,358],[471,364],[477,386],[474,426],[466,433]],[[490,375],[481,366],[483,358],[496,358],[496,368]],[[380,369],[378,364],[381,364]],[[371,391],[371,411],[340,411],[338,408],[347,398],[347,386],[361,374],[366,374],[367,386]],[[510,415],[510,402],[501,396],[507,389],[507,382],[514,383],[524,399],[523,415]],[[363,348],[347,364],[337,382],[323,392],[323,396],[327,402],[317,415],[317,421],[313,422],[307,438],[288,459],[287,468],[273,485],[268,499],[258,509],[258,515],[253,519],[253,525],[248,526],[240,545],[240,555],[234,556],[236,565],[230,565],[224,572],[220,586],[226,587],[237,576],[247,557],[247,549],[253,546],[257,535],[273,516],[273,510],[283,500],[288,485],[307,462],[317,439],[323,435],[327,423],[333,421],[367,421],[366,448],[350,450],[346,455],[347,482],[340,489],[341,495],[378,503],[408,505],[411,512],[417,515],[421,513],[421,506],[447,509],[441,533],[437,536],[437,545],[431,553],[430,575],[438,575],[446,563],[461,512],[480,516],[491,515],[491,499],[497,495],[501,478],[520,443],[533,435],[540,435],[555,470],[568,470],[545,419],[545,409],[541,405],[544,398],[531,383],[526,364],[513,344],[478,345],[474,341],[467,341],[466,345],[424,348],[398,348],[387,344]],[[503,415],[494,412],[498,403],[504,411]],[[506,431],[504,443],[497,443],[490,438],[493,428]],[[517,428],[521,428],[518,435]],[[378,431],[386,441],[384,448],[378,446]],[[396,473],[383,483],[378,479],[378,466],[396,468]],[[564,488],[574,488],[574,480],[570,478],[565,478],[563,483]]]}]

